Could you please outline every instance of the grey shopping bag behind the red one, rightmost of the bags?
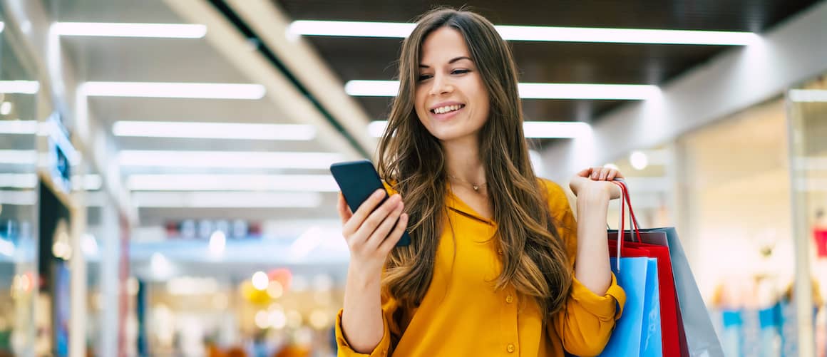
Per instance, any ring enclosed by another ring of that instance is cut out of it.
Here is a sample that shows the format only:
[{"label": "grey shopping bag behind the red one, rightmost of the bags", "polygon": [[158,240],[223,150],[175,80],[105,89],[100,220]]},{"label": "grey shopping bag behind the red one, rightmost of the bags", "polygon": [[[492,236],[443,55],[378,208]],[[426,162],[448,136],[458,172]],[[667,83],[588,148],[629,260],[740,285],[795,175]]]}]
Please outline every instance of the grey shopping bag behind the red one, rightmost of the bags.
[{"label": "grey shopping bag behind the red one, rightmost of the bags", "polygon": [[[622,180],[615,183],[621,188],[622,196],[625,202],[629,204],[629,217],[632,219],[633,225],[637,227],[638,223],[634,218],[631,201],[629,200],[629,190]],[[622,226],[620,229],[623,230]],[[681,356],[724,357],[724,350],[720,345],[718,336],[715,334],[710,314],[706,309],[703,298],[700,296],[700,290],[675,228],[635,229],[633,233],[638,241],[642,241],[643,236],[648,236],[647,233],[662,233],[666,236],[669,258],[672,260],[672,278],[675,283],[677,305],[679,307],[679,313],[677,314],[678,326],[682,326],[678,330],[681,338]],[[624,240],[624,236],[619,236],[619,247],[624,244]]]}]

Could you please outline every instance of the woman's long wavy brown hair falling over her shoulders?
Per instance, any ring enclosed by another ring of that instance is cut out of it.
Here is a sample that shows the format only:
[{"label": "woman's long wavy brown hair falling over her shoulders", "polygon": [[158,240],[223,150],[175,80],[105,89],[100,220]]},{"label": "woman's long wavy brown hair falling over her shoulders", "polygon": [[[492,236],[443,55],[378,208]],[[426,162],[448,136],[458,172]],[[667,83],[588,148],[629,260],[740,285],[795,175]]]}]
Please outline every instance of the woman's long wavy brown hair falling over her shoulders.
[{"label": "woman's long wavy brown hair falling over her shoulders", "polygon": [[423,40],[443,26],[465,38],[490,98],[488,120],[480,130],[489,202],[497,222],[495,239],[503,250],[503,270],[495,288],[514,285],[535,298],[543,317],[559,311],[571,288],[571,264],[548,210],[545,190],[534,175],[523,136],[523,110],[517,69],[509,45],[485,17],[451,8],[423,15],[399,55],[399,93],[379,145],[379,172],[402,194],[410,219],[411,245],[397,247],[385,264],[385,288],[406,307],[422,302],[447,215],[446,163],[439,140],[414,110]]}]

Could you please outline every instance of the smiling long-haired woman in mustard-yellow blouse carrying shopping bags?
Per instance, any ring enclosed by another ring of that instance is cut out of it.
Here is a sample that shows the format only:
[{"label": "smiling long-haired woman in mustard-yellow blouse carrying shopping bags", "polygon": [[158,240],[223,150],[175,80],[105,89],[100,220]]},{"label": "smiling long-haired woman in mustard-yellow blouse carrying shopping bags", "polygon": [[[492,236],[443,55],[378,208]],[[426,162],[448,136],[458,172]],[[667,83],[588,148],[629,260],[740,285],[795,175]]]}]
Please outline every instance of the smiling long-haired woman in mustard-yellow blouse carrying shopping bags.
[{"label": "smiling long-haired woman in mustard-yellow blouse carrying shopping bags", "polygon": [[[425,14],[404,40],[379,146],[381,190],[356,212],[340,355],[598,355],[625,295],[605,222],[615,170],[557,184],[528,159],[508,45],[473,12]],[[404,203],[402,198],[404,197]],[[395,247],[408,226],[412,243]]]}]

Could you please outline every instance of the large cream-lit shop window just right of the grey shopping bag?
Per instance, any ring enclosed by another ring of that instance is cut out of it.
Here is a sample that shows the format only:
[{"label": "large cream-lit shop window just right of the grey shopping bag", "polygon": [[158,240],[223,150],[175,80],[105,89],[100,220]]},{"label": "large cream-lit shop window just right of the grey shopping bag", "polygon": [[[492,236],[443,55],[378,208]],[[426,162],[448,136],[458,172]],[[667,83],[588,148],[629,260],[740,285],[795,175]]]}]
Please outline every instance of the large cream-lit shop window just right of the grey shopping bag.
[{"label": "large cream-lit shop window just right of the grey shopping bag", "polygon": [[776,98],[676,143],[682,239],[726,355],[797,355],[786,128]]}]

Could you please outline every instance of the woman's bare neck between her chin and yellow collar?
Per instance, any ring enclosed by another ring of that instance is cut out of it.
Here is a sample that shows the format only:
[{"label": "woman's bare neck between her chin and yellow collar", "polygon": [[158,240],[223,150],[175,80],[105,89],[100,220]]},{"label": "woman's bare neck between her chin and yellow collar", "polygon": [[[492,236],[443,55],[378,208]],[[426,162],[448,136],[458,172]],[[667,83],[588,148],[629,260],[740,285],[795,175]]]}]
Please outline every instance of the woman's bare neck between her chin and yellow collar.
[{"label": "woman's bare neck between her chin and yellow collar", "polygon": [[442,142],[442,150],[445,150],[447,174],[476,185],[486,182],[485,166],[480,160],[477,140]]}]

